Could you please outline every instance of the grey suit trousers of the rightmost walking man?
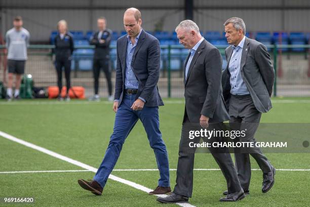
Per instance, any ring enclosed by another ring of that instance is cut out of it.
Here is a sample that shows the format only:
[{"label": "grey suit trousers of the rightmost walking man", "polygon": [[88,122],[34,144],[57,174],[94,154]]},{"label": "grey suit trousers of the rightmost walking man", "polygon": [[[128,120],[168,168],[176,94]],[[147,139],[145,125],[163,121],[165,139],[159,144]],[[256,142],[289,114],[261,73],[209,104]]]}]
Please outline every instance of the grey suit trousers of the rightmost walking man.
[{"label": "grey suit trousers of the rightmost walking man", "polygon": [[[254,142],[254,134],[259,126],[261,113],[256,110],[251,95],[235,96],[231,95],[229,101],[229,125],[232,130],[245,130],[246,135],[239,137],[240,142]],[[271,172],[272,164],[267,157],[262,154],[260,148],[242,149],[250,153],[238,153],[235,151],[235,162],[240,184],[244,190],[248,190],[251,180],[251,163],[249,154],[256,160],[260,169]]]}]

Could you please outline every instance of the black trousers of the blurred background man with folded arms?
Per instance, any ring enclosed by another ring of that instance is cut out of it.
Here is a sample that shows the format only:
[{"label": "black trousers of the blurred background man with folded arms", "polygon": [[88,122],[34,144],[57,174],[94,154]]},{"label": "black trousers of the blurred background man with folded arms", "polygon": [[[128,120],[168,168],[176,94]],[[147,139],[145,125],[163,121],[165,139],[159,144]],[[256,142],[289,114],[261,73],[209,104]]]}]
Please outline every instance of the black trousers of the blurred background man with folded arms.
[{"label": "black trousers of the blurred background man with folded arms", "polygon": [[99,76],[100,70],[103,70],[107,82],[108,93],[112,95],[112,82],[111,82],[111,72],[109,71],[109,59],[94,59],[93,62],[93,74],[94,74],[94,90],[95,94],[99,92]]}]

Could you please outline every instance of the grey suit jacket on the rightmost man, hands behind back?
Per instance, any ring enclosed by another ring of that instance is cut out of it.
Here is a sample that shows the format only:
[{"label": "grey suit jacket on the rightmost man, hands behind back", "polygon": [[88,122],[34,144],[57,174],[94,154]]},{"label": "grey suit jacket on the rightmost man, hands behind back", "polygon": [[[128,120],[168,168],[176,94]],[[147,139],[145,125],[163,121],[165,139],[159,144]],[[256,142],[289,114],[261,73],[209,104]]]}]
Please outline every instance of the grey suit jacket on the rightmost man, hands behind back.
[{"label": "grey suit jacket on the rightmost man, hands behind back", "polygon": [[[229,105],[230,99],[231,87],[228,65],[232,50],[231,45],[225,49],[227,66],[222,74],[222,87],[226,106]],[[261,113],[268,112],[272,108],[270,96],[275,82],[275,70],[267,48],[263,44],[246,37],[242,49],[240,68],[242,79],[251,94],[257,111]]]}]

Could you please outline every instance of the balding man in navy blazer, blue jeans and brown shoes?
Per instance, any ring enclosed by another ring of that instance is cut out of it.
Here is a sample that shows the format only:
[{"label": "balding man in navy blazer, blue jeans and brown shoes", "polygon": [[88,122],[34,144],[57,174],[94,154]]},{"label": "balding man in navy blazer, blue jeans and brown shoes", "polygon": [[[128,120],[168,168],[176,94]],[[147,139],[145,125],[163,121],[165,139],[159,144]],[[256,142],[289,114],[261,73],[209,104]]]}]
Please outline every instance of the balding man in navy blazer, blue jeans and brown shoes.
[{"label": "balding man in navy blazer, blue jeans and brown shoes", "polygon": [[149,194],[170,192],[168,154],[159,129],[158,107],[164,103],[158,92],[160,75],[159,41],[141,28],[141,13],[135,8],[124,13],[127,35],[117,41],[117,71],[113,110],[116,112],[113,133],[98,171],[91,181],[80,179],[80,186],[96,195],[116,164],[126,137],[141,120],[150,147],[154,150],[160,179]]}]

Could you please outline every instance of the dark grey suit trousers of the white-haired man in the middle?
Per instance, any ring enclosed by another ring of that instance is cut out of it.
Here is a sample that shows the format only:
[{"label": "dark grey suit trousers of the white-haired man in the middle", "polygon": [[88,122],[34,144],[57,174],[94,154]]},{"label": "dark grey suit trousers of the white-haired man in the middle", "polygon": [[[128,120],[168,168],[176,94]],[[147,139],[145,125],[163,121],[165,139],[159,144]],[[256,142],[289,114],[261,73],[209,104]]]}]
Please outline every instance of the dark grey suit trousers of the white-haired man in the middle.
[{"label": "dark grey suit trousers of the white-haired man in the middle", "polygon": [[[209,130],[222,130],[222,123],[210,123]],[[193,186],[193,166],[196,148],[189,148],[189,143],[199,143],[198,139],[190,140],[188,137],[189,130],[200,130],[199,123],[190,123],[188,119],[185,119],[182,125],[181,140],[179,145],[179,159],[177,166],[177,178],[176,185],[174,187],[174,193],[191,197]],[[205,142],[212,143],[215,139],[204,140]],[[219,138],[216,137],[216,142],[219,142]],[[235,164],[231,159],[231,156],[227,148],[218,149],[209,148],[213,158],[220,167],[222,174],[224,175],[227,183],[227,189],[229,193],[235,193],[241,190],[241,185],[238,180]],[[206,155],[207,156],[207,155]]]}]

